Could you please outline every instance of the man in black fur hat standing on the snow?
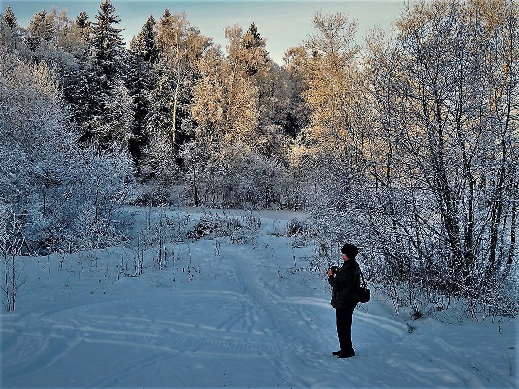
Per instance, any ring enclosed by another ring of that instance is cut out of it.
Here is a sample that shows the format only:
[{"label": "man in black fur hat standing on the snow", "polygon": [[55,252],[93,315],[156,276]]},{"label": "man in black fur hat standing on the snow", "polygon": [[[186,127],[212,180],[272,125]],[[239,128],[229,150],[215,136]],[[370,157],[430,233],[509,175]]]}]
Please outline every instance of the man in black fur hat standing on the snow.
[{"label": "man in black fur hat standing on the snow", "polygon": [[333,288],[330,304],[335,308],[340,345],[340,350],[332,354],[337,358],[349,358],[355,355],[351,343],[351,322],[353,310],[359,302],[360,268],[355,260],[359,249],[350,243],[345,243],[340,251],[343,253],[343,266],[340,268],[334,266],[327,271],[328,282]]}]

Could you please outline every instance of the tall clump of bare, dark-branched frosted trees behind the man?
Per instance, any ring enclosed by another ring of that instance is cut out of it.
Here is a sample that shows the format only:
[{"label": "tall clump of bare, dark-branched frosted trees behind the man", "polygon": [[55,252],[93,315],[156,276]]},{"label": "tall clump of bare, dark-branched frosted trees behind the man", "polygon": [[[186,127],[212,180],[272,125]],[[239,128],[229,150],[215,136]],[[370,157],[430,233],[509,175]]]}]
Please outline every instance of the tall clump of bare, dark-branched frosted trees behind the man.
[{"label": "tall clump of bare, dark-branched frosted trees behind the man", "polygon": [[[519,73],[487,77],[516,63],[517,13],[503,3],[489,24],[479,4],[440,3],[409,10],[397,39],[368,45],[362,72],[348,81],[358,93],[313,123],[326,137],[314,196],[327,225],[319,239],[334,249],[357,244],[372,280],[395,300],[405,288],[417,310],[441,294],[463,301],[470,316],[517,314],[507,284],[519,288],[511,277]],[[450,60],[438,62],[443,53]]]}]

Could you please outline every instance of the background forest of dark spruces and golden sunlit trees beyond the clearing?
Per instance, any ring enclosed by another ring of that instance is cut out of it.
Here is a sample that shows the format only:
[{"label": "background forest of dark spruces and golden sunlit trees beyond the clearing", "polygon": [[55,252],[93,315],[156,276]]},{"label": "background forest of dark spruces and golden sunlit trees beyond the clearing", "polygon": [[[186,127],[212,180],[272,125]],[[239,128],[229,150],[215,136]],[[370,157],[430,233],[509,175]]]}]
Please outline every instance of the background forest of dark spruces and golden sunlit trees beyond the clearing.
[{"label": "background forest of dark spruces and golden sunlit trees beyond the clearing", "polygon": [[135,203],[304,204],[297,136],[308,123],[301,77],[272,62],[252,23],[225,29],[227,54],[184,13],[150,15],[129,48],[110,1],[94,20],[40,11],[25,29],[8,6],[3,46],[46,63],[80,144],[127,149],[145,184]]}]

